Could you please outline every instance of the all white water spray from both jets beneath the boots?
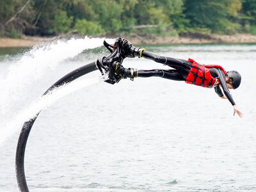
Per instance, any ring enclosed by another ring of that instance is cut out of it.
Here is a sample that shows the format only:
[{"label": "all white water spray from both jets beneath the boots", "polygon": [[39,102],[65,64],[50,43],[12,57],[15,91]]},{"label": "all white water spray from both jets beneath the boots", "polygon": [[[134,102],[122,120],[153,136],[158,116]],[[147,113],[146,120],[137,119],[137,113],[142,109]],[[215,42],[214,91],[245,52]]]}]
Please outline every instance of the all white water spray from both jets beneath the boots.
[{"label": "all white water spray from both jets beneath the boots", "polygon": [[[52,92],[52,96],[47,95],[37,102],[33,102],[36,100],[36,97],[31,100],[29,93],[40,79],[44,81],[47,72],[53,71],[62,61],[76,57],[85,49],[100,47],[103,45],[103,41],[103,38],[88,37],[83,39],[70,39],[67,42],[59,40],[58,42],[45,45],[44,47],[33,47],[33,49],[26,52],[19,61],[13,62],[12,65],[10,65],[8,72],[4,77],[0,78],[0,145],[3,144],[6,138],[9,138],[13,132],[19,131],[24,121],[35,116],[36,113],[49,106],[49,104],[55,100],[79,88],[99,82],[98,79],[86,80],[86,82],[79,81],[80,83],[76,83],[75,88],[67,86],[67,88],[70,87],[69,90],[63,89],[63,91],[58,92],[56,90]],[[113,40],[108,41],[113,42]],[[84,64],[85,63],[81,63],[81,66]],[[52,84],[53,83],[54,82],[52,82]],[[44,92],[45,90],[42,90],[40,94]],[[28,99],[29,102],[27,101]],[[31,102],[33,104],[31,104],[29,108],[24,109],[24,106],[28,105],[22,105],[24,100],[28,102],[28,104]],[[19,106],[22,106],[22,108],[20,109]]]}]

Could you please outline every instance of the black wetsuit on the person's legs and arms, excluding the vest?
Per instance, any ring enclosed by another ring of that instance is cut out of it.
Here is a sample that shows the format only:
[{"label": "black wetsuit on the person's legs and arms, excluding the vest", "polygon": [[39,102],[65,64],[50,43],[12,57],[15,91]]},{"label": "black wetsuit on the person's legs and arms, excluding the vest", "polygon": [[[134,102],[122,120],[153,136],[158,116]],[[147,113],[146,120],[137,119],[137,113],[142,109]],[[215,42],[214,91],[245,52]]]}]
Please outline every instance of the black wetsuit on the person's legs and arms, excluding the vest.
[{"label": "black wetsuit on the person's legs and arms, excluding the vest", "polygon": [[[143,51],[141,56],[143,58],[147,58],[150,60],[154,60],[158,63],[163,63],[164,65],[168,65],[175,69],[163,70],[163,69],[153,69],[153,70],[138,70],[138,77],[163,77],[166,79],[171,79],[175,81],[186,81],[189,70],[191,68],[192,62],[188,60],[179,60],[176,58],[168,58],[165,56],[158,56],[152,52]],[[227,99],[230,101],[232,106],[235,105],[234,99],[230,94],[226,81],[225,74],[220,68],[211,67],[209,68],[211,72],[211,76],[217,79],[220,79],[221,88],[223,89],[224,94]],[[214,87],[215,92],[223,97],[223,93],[221,92],[220,85]]]}]

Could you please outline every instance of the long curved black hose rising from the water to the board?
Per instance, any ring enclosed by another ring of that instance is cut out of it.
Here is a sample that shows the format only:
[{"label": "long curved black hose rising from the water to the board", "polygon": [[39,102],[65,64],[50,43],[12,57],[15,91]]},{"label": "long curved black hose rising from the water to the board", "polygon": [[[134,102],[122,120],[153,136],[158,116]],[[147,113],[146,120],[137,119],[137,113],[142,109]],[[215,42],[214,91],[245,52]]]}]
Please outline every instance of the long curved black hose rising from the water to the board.
[{"label": "long curved black hose rising from the water to the board", "polygon": [[[85,74],[88,74],[90,72],[93,72],[94,70],[97,70],[97,67],[95,65],[95,62],[89,63],[88,65],[84,65],[83,67],[77,68],[76,70],[73,70],[66,76],[62,77],[59,81],[52,84],[52,86],[43,94],[46,95],[47,93],[51,92],[54,88],[61,86],[63,84],[70,83],[71,81],[74,81],[78,77],[84,76]],[[40,112],[39,112],[40,113]],[[19,136],[19,141],[17,144],[17,150],[16,150],[16,177],[17,182],[19,186],[19,190],[22,192],[28,192],[28,185],[26,182],[25,177],[25,171],[24,171],[24,156],[25,156],[25,150],[26,150],[26,143],[28,140],[29,132],[39,115],[36,114],[36,116],[29,120],[28,122],[25,122]]]}]

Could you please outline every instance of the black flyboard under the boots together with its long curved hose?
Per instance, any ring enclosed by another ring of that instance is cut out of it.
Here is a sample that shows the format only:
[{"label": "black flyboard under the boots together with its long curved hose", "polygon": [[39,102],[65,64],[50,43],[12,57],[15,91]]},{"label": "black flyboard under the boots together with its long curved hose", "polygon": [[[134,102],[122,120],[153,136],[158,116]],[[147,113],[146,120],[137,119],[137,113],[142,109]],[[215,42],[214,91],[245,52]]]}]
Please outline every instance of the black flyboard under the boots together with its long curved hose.
[{"label": "black flyboard under the boots together with its long curved hose", "polygon": [[[66,76],[63,76],[60,80],[56,83],[52,84],[52,86],[43,94],[46,95],[47,93],[51,93],[54,88],[58,88],[63,84],[70,83],[75,79],[84,76],[94,70],[99,69],[102,75],[108,75],[107,83],[114,84],[120,79],[115,77],[115,74],[112,70],[113,63],[122,63],[125,58],[125,53],[121,49],[124,39],[123,38],[116,38],[115,45],[109,45],[106,41],[104,41],[105,47],[111,52],[108,57],[103,57],[100,60],[95,62],[89,63],[84,65],[83,67],[79,67],[76,70],[73,70]],[[40,112],[39,112],[40,113]],[[26,182],[25,170],[24,170],[24,157],[25,157],[25,150],[26,150],[26,143],[28,141],[29,132],[35,123],[35,120],[39,113],[36,114],[34,118],[31,118],[27,122],[24,123],[19,140],[17,143],[17,150],[16,150],[16,159],[15,159],[15,166],[16,166],[16,177],[17,183],[19,186],[19,190],[22,192],[28,192],[28,185]]]}]

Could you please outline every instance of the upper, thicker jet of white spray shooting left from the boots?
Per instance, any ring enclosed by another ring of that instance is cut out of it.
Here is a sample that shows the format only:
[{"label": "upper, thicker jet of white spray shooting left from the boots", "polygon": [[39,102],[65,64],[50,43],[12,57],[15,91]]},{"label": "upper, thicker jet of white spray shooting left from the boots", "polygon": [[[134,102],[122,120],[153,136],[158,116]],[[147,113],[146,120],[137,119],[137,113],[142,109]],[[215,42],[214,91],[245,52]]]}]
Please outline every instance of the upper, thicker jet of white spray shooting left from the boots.
[{"label": "upper, thicker jet of white spray shooting left from the boots", "polygon": [[61,61],[74,58],[85,49],[100,47],[103,40],[85,36],[83,39],[59,40],[44,47],[34,47],[10,65],[6,78],[0,78],[0,112],[8,113],[31,84],[44,77],[47,71],[54,70]]}]

